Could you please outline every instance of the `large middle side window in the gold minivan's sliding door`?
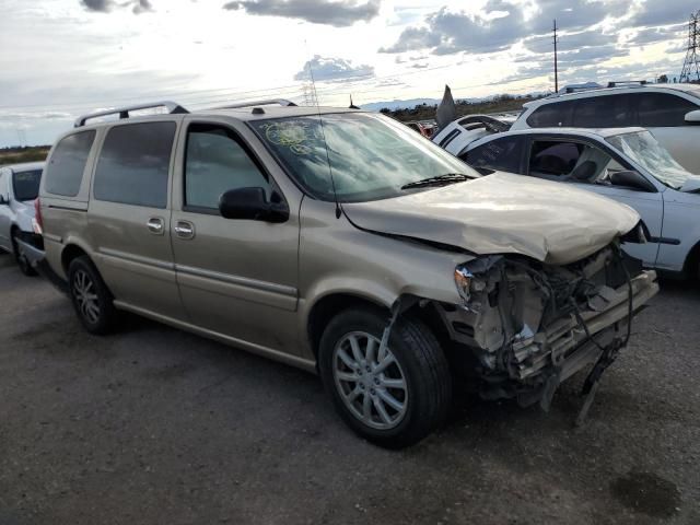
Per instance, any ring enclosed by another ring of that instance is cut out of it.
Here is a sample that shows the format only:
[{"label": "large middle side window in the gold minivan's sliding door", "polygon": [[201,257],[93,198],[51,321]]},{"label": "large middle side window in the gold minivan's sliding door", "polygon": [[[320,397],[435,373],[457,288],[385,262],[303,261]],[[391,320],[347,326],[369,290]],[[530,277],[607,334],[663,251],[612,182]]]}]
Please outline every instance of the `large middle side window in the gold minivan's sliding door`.
[{"label": "large middle side window in the gold minivan's sliding door", "polygon": [[165,208],[175,128],[175,122],[112,128],[97,162],[95,199]]}]

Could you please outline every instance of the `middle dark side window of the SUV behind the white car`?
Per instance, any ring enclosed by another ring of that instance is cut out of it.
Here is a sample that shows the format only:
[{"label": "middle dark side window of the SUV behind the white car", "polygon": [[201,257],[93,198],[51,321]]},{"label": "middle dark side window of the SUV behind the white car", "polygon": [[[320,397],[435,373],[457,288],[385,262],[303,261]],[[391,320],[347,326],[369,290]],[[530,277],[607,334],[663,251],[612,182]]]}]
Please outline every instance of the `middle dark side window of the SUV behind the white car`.
[{"label": "middle dark side window of the SUV behind the white car", "polygon": [[575,101],[572,125],[576,128],[634,126],[629,95],[602,95]]}]

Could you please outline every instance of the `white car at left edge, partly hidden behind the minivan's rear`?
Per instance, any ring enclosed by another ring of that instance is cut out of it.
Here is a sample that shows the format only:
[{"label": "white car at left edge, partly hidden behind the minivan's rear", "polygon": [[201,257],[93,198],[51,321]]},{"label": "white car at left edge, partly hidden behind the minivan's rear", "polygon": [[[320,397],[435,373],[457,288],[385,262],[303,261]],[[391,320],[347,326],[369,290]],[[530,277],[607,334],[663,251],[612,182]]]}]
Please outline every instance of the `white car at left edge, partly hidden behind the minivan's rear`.
[{"label": "white car at left edge, partly hidden behind the minivan's rear", "polygon": [[25,276],[36,272],[18,241],[37,244],[34,200],[38,197],[43,170],[42,162],[0,167],[0,249],[14,255]]}]

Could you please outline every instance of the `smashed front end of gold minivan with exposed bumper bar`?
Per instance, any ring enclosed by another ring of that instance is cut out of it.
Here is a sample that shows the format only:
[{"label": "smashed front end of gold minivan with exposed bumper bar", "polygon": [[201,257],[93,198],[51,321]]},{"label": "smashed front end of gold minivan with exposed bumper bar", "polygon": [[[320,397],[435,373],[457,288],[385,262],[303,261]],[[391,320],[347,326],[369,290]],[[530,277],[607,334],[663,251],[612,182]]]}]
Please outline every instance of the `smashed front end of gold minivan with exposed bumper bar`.
[{"label": "smashed front end of gold minivan with exposed bumper bar", "polygon": [[599,377],[627,342],[630,319],[658,292],[654,271],[635,270],[629,281],[614,278],[608,276],[611,260],[606,250],[584,261],[578,273],[551,270],[560,272],[564,285],[578,276],[596,283],[586,289],[587,299],[579,294],[574,302],[571,295],[575,306],[558,316],[550,314],[547,320],[546,300],[537,291],[542,287],[529,277],[534,270],[504,279],[505,271],[499,275],[492,265],[478,275],[482,292],[474,293],[463,307],[442,305],[451,339],[476,359],[482,397],[516,398],[524,406],[540,402],[548,409],[559,385],[572,375],[593,365]]}]

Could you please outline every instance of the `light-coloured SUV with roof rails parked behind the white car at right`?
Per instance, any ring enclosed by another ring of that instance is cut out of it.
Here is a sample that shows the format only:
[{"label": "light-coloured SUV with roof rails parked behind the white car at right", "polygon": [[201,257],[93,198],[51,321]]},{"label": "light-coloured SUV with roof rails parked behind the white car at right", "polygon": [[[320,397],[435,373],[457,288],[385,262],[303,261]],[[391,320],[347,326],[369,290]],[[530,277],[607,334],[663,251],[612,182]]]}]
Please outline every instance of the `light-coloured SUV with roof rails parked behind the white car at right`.
[{"label": "light-coloured SUV with roof rails parked behind the white car at right", "polygon": [[529,102],[511,129],[649,129],[690,173],[700,173],[700,85],[610,82]]}]

